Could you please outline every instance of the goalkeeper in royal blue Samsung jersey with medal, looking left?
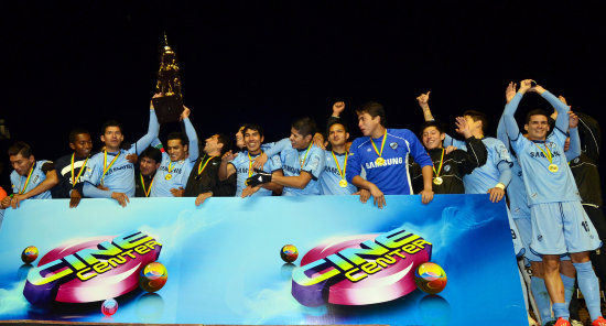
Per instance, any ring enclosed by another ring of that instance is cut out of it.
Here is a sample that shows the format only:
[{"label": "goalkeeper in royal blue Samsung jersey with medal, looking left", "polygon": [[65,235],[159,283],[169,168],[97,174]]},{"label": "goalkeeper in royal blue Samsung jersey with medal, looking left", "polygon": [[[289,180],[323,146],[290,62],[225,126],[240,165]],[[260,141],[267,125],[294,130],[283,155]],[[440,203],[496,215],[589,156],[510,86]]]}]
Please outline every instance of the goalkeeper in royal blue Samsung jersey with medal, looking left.
[{"label": "goalkeeper in royal blue Samsung jersey with medal, looking left", "polygon": [[[430,203],[433,199],[432,162],[416,135],[408,129],[387,129],[385,109],[379,102],[367,102],[356,113],[365,137],[354,140],[349,148],[347,182],[370,191],[375,204],[382,208],[385,195],[412,194],[407,169],[408,156],[412,155],[423,175],[422,202]],[[367,180],[360,176],[362,167]]]}]

